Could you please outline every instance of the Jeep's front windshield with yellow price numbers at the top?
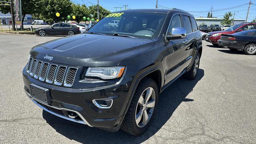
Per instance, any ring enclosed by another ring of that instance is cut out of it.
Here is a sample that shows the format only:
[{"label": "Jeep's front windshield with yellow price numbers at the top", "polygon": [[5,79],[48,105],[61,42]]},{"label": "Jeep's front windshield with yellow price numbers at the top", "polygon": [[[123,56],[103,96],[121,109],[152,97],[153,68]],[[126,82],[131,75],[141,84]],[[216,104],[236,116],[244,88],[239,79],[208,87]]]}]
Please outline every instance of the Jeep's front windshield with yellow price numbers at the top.
[{"label": "Jeep's front windshield with yellow price numbers at the top", "polygon": [[167,14],[155,12],[112,13],[87,33],[119,34],[136,38],[157,38]]}]

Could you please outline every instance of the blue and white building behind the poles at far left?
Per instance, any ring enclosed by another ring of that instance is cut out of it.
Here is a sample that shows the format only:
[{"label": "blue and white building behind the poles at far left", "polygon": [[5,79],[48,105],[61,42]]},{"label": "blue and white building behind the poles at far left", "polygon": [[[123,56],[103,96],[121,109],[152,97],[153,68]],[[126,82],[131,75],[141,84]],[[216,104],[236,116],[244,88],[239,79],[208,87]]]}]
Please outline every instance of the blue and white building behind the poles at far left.
[{"label": "blue and white building behind the poles at far left", "polygon": [[[0,12],[1,24],[9,24],[10,20],[12,20],[12,15],[10,13],[3,14],[2,12]],[[31,24],[31,23],[32,23],[32,16],[30,14],[26,14],[23,24]]]}]

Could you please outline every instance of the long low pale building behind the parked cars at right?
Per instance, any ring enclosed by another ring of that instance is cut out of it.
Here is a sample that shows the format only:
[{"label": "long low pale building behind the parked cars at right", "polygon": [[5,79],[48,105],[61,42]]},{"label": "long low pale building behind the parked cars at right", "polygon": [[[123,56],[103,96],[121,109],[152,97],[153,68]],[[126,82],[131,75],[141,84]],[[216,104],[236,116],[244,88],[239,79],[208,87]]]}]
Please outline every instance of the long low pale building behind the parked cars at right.
[{"label": "long low pale building behind the parked cars at right", "polygon": [[[218,24],[218,25],[222,26],[222,24],[220,24],[220,22],[223,21],[222,18],[195,18],[195,19],[196,19],[196,22],[198,25],[206,24],[207,26],[210,26],[211,24]],[[240,24],[242,22],[245,22],[245,20],[239,20],[239,19],[234,20],[234,24]]]}]

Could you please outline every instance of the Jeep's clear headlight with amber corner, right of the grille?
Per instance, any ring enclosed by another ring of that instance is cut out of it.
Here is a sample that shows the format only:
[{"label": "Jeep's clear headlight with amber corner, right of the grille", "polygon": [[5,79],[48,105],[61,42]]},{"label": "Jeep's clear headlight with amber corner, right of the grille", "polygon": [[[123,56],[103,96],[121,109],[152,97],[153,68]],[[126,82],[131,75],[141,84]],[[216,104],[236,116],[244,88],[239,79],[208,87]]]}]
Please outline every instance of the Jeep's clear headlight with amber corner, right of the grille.
[{"label": "Jeep's clear headlight with amber corner, right of the grille", "polygon": [[120,78],[124,73],[124,66],[112,68],[91,68],[89,67],[85,76],[98,77],[102,79]]}]

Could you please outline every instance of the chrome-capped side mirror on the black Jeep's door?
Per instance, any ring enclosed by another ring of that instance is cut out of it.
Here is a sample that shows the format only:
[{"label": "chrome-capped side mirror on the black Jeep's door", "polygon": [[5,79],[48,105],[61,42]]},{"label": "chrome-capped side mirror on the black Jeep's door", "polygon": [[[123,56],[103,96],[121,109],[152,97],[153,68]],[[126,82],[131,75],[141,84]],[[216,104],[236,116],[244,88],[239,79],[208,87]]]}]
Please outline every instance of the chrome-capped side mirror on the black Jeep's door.
[{"label": "chrome-capped side mirror on the black Jeep's door", "polygon": [[177,40],[187,37],[187,31],[185,28],[172,28],[172,33],[166,36],[167,40]]}]

